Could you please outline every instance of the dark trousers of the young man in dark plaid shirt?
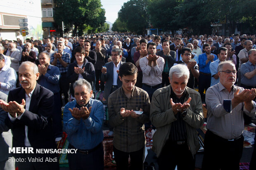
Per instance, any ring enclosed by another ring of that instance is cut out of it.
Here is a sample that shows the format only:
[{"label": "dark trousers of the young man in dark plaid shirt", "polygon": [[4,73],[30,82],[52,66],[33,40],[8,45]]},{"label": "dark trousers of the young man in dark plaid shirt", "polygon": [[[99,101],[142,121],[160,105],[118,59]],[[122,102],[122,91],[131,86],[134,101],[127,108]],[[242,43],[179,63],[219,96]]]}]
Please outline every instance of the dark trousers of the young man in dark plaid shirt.
[{"label": "dark trousers of the young man in dark plaid shirt", "polygon": [[[134,152],[123,152],[113,146],[116,170],[143,170],[144,147]],[[130,155],[130,168],[128,168],[128,158]]]}]

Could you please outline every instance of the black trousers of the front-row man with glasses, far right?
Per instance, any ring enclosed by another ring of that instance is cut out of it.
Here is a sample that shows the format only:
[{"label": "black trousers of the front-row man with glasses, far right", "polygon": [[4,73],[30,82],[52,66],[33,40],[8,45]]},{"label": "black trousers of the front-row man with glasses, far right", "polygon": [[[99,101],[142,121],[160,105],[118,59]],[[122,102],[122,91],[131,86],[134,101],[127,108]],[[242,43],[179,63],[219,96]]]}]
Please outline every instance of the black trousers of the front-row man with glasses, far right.
[{"label": "black trousers of the front-row man with glasses, far right", "polygon": [[229,141],[207,130],[202,170],[239,170],[244,137]]}]

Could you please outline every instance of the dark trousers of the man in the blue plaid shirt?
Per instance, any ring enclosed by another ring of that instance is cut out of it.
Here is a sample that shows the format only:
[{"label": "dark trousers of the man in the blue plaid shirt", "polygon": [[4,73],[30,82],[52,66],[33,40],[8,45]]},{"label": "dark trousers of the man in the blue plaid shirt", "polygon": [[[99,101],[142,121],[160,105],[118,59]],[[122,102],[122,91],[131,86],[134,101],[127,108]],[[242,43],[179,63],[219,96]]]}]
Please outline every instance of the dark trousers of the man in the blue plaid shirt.
[{"label": "dark trousers of the man in the blue plaid shirt", "polygon": [[[66,72],[61,73],[61,77],[59,79],[59,87],[60,87],[60,95],[62,95],[62,93],[64,94],[64,101],[65,101],[65,105],[69,102],[68,98],[69,98],[69,80],[66,77]],[[61,100],[62,101],[62,100]],[[63,103],[62,103],[63,105]]]}]

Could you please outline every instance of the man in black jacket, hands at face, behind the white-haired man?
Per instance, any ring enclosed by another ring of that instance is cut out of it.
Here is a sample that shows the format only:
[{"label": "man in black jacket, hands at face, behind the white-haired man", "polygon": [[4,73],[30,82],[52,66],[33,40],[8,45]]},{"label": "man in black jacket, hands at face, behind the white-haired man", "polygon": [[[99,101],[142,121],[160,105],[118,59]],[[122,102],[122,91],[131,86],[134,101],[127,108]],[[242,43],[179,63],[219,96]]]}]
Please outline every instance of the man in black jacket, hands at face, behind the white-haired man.
[{"label": "man in black jacket, hands at face, behind the white-haired man", "polygon": [[[170,50],[168,40],[164,40],[162,42],[162,48],[163,50],[158,51],[156,53],[156,56],[160,56],[164,58],[164,71],[162,72],[162,86],[164,87],[164,84],[166,84],[166,86],[170,84],[170,81],[168,78],[169,70],[175,63],[176,52]],[[166,66],[166,62],[167,62],[167,66]]]}]

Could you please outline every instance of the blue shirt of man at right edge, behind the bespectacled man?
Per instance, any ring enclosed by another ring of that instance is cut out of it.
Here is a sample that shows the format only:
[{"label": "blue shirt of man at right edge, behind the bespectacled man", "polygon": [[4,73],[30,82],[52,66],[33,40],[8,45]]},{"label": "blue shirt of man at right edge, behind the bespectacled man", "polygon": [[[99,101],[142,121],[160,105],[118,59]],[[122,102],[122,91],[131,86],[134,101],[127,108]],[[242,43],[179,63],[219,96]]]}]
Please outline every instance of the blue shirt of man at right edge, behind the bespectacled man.
[{"label": "blue shirt of man at right edge, behind the bespectacled man", "polygon": [[246,63],[243,63],[240,68],[241,72],[241,83],[246,86],[256,86],[256,75],[254,77],[251,77],[251,79],[247,79],[247,77],[244,76],[247,72],[252,72],[255,70],[256,65],[253,65],[250,61],[247,61]]}]

